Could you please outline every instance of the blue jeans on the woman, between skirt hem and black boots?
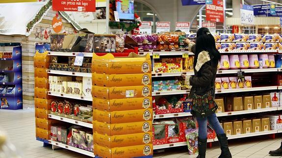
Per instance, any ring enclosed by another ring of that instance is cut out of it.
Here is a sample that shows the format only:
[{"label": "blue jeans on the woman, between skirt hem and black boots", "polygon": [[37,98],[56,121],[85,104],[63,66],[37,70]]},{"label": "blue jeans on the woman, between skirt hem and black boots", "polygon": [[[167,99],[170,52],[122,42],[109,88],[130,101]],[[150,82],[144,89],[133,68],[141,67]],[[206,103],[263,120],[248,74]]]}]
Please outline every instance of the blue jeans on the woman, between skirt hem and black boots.
[{"label": "blue jeans on the woman, between skirt hem and black boots", "polygon": [[224,130],[221,127],[221,125],[219,124],[219,121],[215,113],[207,117],[197,117],[196,119],[199,125],[199,138],[200,139],[203,140],[203,139],[206,139],[207,137],[207,121],[217,135],[224,134]]}]

